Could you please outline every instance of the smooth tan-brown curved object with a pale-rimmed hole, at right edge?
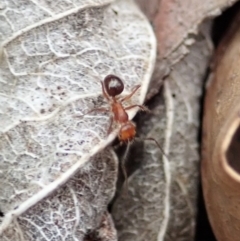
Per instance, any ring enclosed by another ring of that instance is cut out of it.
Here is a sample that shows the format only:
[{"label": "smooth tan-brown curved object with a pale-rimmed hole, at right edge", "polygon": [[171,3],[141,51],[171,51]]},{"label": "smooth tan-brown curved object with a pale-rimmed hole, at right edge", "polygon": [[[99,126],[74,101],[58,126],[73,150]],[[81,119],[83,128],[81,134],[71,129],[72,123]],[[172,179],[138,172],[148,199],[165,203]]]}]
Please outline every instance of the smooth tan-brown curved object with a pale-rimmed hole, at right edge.
[{"label": "smooth tan-brown curved object with a pale-rimmed hole, at right edge", "polygon": [[218,47],[204,107],[202,182],[219,241],[240,237],[240,14]]}]

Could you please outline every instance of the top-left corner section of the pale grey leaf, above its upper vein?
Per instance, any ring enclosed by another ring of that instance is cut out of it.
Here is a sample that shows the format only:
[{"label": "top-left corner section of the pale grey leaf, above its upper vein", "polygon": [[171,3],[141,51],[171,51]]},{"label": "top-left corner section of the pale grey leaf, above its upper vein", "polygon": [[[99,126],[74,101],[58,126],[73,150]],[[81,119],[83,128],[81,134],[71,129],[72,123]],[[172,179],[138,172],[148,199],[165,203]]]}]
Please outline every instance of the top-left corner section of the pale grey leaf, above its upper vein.
[{"label": "top-left corner section of the pale grey leaf, above its upper vein", "polygon": [[[4,45],[29,31],[36,26],[47,22],[53,22],[54,19],[62,18],[79,10],[90,7],[101,7],[114,0],[2,0],[0,3],[0,41]],[[19,21],[21,20],[21,21]],[[9,39],[8,39],[9,38]]]}]

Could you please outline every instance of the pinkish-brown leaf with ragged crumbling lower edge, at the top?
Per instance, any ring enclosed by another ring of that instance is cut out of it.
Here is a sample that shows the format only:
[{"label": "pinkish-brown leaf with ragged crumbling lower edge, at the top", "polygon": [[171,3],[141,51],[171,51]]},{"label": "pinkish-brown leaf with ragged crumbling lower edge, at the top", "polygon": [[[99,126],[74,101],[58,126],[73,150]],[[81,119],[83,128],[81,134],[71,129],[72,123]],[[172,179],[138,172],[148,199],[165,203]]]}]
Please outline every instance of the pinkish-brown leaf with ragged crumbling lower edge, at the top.
[{"label": "pinkish-brown leaf with ragged crumbling lower edge, at the top", "polygon": [[[195,42],[199,26],[220,15],[237,0],[137,0],[149,17],[158,40],[158,60],[151,81],[148,99],[155,95],[162,80]],[[208,44],[211,44],[209,42]]]}]

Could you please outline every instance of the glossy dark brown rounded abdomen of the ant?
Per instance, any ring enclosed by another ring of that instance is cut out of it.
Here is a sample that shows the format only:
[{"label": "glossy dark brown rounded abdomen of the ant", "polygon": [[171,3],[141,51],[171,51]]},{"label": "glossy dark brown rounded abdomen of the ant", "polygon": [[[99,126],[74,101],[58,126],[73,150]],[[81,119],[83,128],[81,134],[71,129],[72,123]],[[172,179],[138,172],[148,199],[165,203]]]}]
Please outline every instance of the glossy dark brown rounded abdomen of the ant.
[{"label": "glossy dark brown rounded abdomen of the ant", "polygon": [[115,97],[123,92],[124,85],[122,80],[116,75],[108,75],[104,79],[104,86],[109,96]]}]

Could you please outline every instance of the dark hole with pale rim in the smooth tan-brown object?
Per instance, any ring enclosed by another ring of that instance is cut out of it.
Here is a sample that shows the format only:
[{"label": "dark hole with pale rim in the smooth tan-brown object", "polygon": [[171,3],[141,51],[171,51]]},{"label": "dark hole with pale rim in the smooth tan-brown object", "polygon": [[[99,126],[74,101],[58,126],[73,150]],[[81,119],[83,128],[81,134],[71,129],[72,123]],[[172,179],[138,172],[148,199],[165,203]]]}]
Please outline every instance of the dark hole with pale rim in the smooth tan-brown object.
[{"label": "dark hole with pale rim in the smooth tan-brown object", "polygon": [[227,161],[234,171],[240,173],[240,126],[233,135],[227,151]]}]

